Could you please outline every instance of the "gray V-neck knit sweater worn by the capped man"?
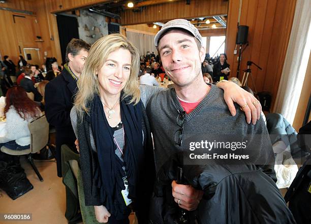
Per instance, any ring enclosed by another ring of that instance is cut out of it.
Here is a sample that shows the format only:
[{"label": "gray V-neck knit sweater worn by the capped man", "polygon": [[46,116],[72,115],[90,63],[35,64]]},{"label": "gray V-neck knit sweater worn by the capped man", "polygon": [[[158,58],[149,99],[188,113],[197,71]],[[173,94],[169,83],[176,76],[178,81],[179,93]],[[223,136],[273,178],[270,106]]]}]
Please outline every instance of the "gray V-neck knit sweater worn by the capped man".
[{"label": "gray V-neck knit sweater worn by the capped man", "polygon": [[[187,150],[187,147],[189,151],[189,145],[183,143],[180,147],[174,141],[175,131],[180,128],[176,123],[176,118],[178,111],[183,111],[183,108],[176,97],[175,89],[172,88],[153,94],[146,104],[146,111],[154,141],[155,166],[159,171],[174,153]],[[187,138],[191,137],[196,138],[197,141],[206,140],[213,135],[231,134],[240,138],[247,136],[248,140],[252,140],[251,136],[256,141],[255,156],[257,158],[254,159],[259,161],[256,165],[270,164],[260,167],[275,179],[272,166],[274,154],[263,119],[260,118],[256,125],[247,124],[245,115],[238,105],[236,105],[236,111],[236,115],[231,116],[224,100],[223,90],[211,85],[206,97],[190,114],[185,116],[183,142],[187,142]]]}]

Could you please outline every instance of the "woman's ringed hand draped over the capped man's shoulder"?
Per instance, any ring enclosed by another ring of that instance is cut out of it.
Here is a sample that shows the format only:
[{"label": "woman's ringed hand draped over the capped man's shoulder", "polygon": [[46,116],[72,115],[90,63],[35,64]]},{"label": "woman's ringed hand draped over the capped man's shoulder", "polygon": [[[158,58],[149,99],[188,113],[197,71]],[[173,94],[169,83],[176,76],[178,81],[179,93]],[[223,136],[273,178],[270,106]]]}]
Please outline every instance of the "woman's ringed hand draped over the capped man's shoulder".
[{"label": "woman's ringed hand draped over the capped man's shoulder", "polygon": [[[252,123],[254,125],[256,124],[256,121],[260,119],[261,104],[255,96],[243,90],[233,82],[219,83],[217,84],[217,87],[224,90],[224,99],[229,107],[232,116],[235,116],[236,114],[233,102],[239,104],[240,107],[247,104],[247,106],[243,108],[246,116],[246,122],[250,124],[252,120]],[[258,103],[254,105],[254,102]]]}]

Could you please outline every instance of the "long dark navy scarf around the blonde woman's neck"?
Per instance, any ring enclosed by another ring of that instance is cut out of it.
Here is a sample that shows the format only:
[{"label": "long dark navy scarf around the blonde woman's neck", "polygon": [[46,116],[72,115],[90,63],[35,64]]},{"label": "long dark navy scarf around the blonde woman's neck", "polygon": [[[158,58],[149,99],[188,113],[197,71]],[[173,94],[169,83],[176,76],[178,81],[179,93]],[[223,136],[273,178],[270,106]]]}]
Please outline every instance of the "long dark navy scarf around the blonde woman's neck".
[{"label": "long dark navy scarf around the blonde woman's neck", "polygon": [[[128,98],[123,99],[120,102],[120,111],[123,130],[125,131],[124,162],[115,154],[116,145],[113,141],[113,131],[106,119],[100,97],[96,95],[90,104],[90,126],[94,135],[100,165],[100,174],[98,175],[101,175],[102,180],[99,183],[100,194],[103,205],[116,219],[127,218],[131,212],[121,195],[121,190],[125,190],[122,177],[127,175],[129,184],[128,198],[132,199],[133,202],[137,198],[138,161],[143,155],[141,101],[133,105],[128,103]],[[126,173],[123,171],[122,166],[126,167]],[[97,178],[96,176],[94,178]]]}]

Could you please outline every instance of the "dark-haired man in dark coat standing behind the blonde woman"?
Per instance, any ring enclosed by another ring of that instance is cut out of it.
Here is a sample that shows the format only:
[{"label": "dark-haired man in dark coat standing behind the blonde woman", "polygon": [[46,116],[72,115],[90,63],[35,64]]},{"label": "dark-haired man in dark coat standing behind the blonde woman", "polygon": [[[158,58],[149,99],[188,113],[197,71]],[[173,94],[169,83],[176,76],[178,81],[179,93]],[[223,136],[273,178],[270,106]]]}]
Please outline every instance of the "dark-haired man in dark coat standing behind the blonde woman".
[{"label": "dark-haired man in dark coat standing behind the blonde woman", "polygon": [[47,121],[56,129],[57,175],[61,177],[60,146],[67,144],[75,151],[76,140],[70,121],[77,81],[82,72],[90,45],[79,39],[72,39],[66,49],[64,70],[45,88],[45,113]]}]

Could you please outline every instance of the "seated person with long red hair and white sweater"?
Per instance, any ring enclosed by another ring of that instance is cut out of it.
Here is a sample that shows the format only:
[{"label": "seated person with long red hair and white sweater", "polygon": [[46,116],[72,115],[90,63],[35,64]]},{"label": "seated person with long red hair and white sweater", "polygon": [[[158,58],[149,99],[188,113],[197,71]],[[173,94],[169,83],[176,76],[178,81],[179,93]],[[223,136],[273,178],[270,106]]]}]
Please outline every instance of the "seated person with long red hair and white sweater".
[{"label": "seated person with long red hair and white sweater", "polygon": [[[25,150],[30,147],[30,132],[28,123],[42,116],[37,103],[29,99],[26,91],[20,86],[10,88],[6,95],[4,108],[6,122],[1,131],[0,147],[6,146],[11,150]],[[2,133],[1,133],[2,134]]]}]

